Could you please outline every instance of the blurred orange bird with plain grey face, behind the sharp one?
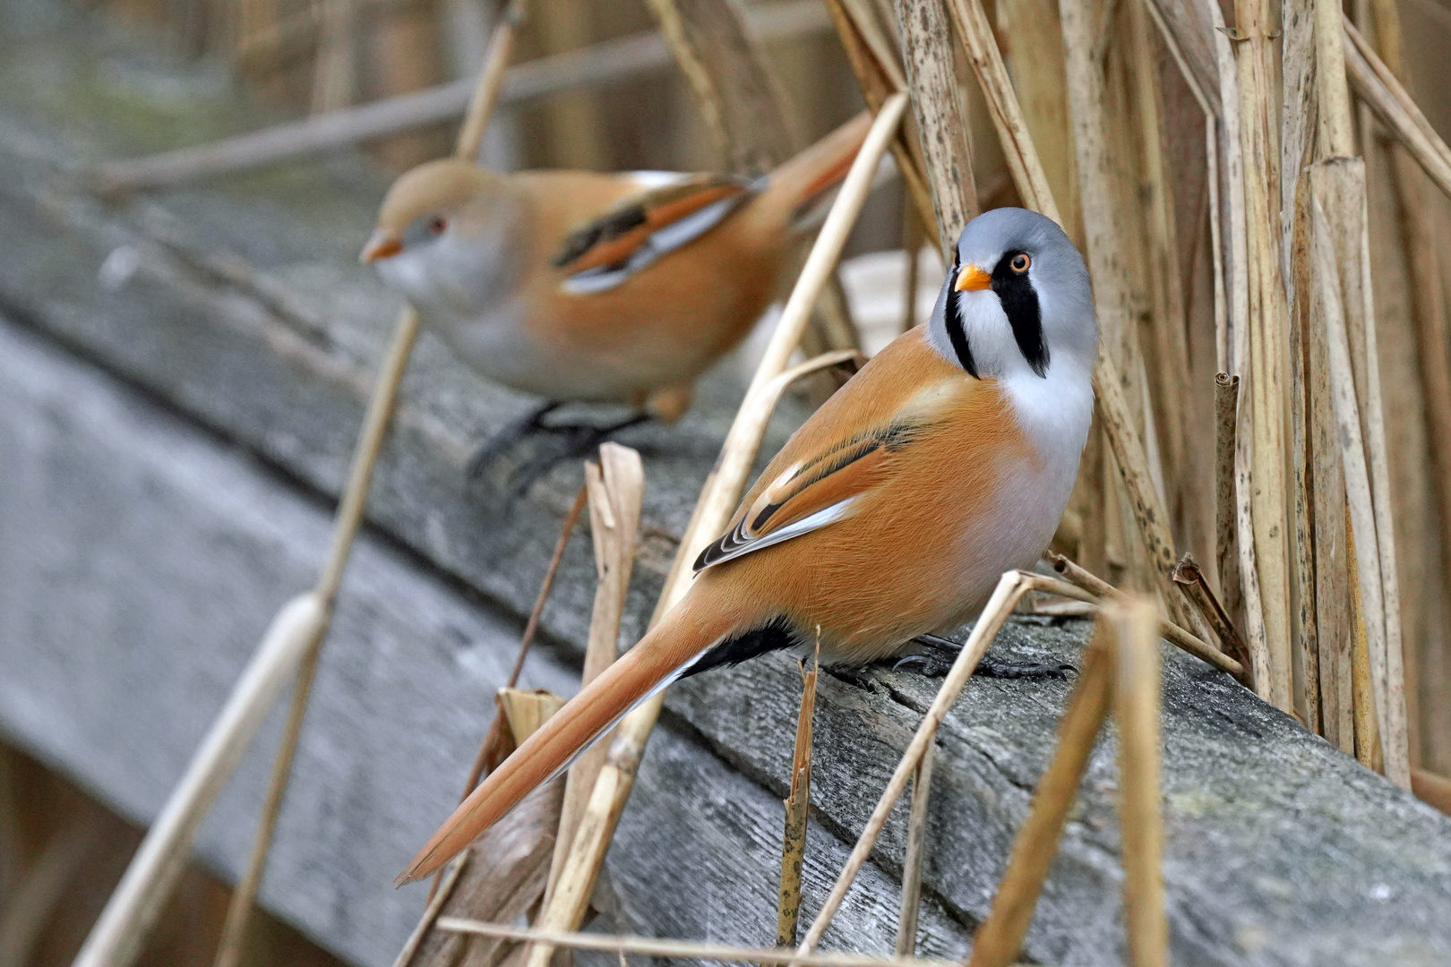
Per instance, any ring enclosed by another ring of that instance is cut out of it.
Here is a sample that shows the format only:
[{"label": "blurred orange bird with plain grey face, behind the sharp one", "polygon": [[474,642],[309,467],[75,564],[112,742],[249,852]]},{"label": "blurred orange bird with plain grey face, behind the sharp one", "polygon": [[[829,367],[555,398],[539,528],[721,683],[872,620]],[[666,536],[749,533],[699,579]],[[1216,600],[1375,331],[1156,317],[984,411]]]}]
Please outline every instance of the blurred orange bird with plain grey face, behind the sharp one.
[{"label": "blurred orange bird with plain grey face, behind the sharp one", "polygon": [[[695,378],[770,303],[794,229],[846,175],[869,126],[863,113],[755,180],[501,175],[459,159],[403,174],[361,260],[463,362],[547,400],[470,471],[531,432],[564,433],[582,454],[644,419],[679,418]],[[566,402],[638,412],[604,428],[544,423]]]}]

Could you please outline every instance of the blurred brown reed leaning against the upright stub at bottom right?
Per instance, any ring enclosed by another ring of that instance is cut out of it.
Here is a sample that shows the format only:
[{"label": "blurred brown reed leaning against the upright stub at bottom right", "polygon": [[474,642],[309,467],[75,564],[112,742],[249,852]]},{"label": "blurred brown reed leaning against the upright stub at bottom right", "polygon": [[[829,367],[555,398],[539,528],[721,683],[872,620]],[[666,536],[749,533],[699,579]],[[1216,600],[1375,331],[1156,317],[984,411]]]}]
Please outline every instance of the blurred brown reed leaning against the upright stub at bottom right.
[{"label": "blurred brown reed leaning against the upright stub at bottom right", "polygon": [[1094,739],[1109,716],[1114,634],[1113,621],[1101,615],[1058,725],[1053,757],[1033,793],[1032,810],[1013,839],[1013,852],[998,881],[992,909],[972,938],[968,967],[1003,967],[1013,963],[1023,948],[1037,896],[1058,854],[1068,810],[1088,768]]}]

